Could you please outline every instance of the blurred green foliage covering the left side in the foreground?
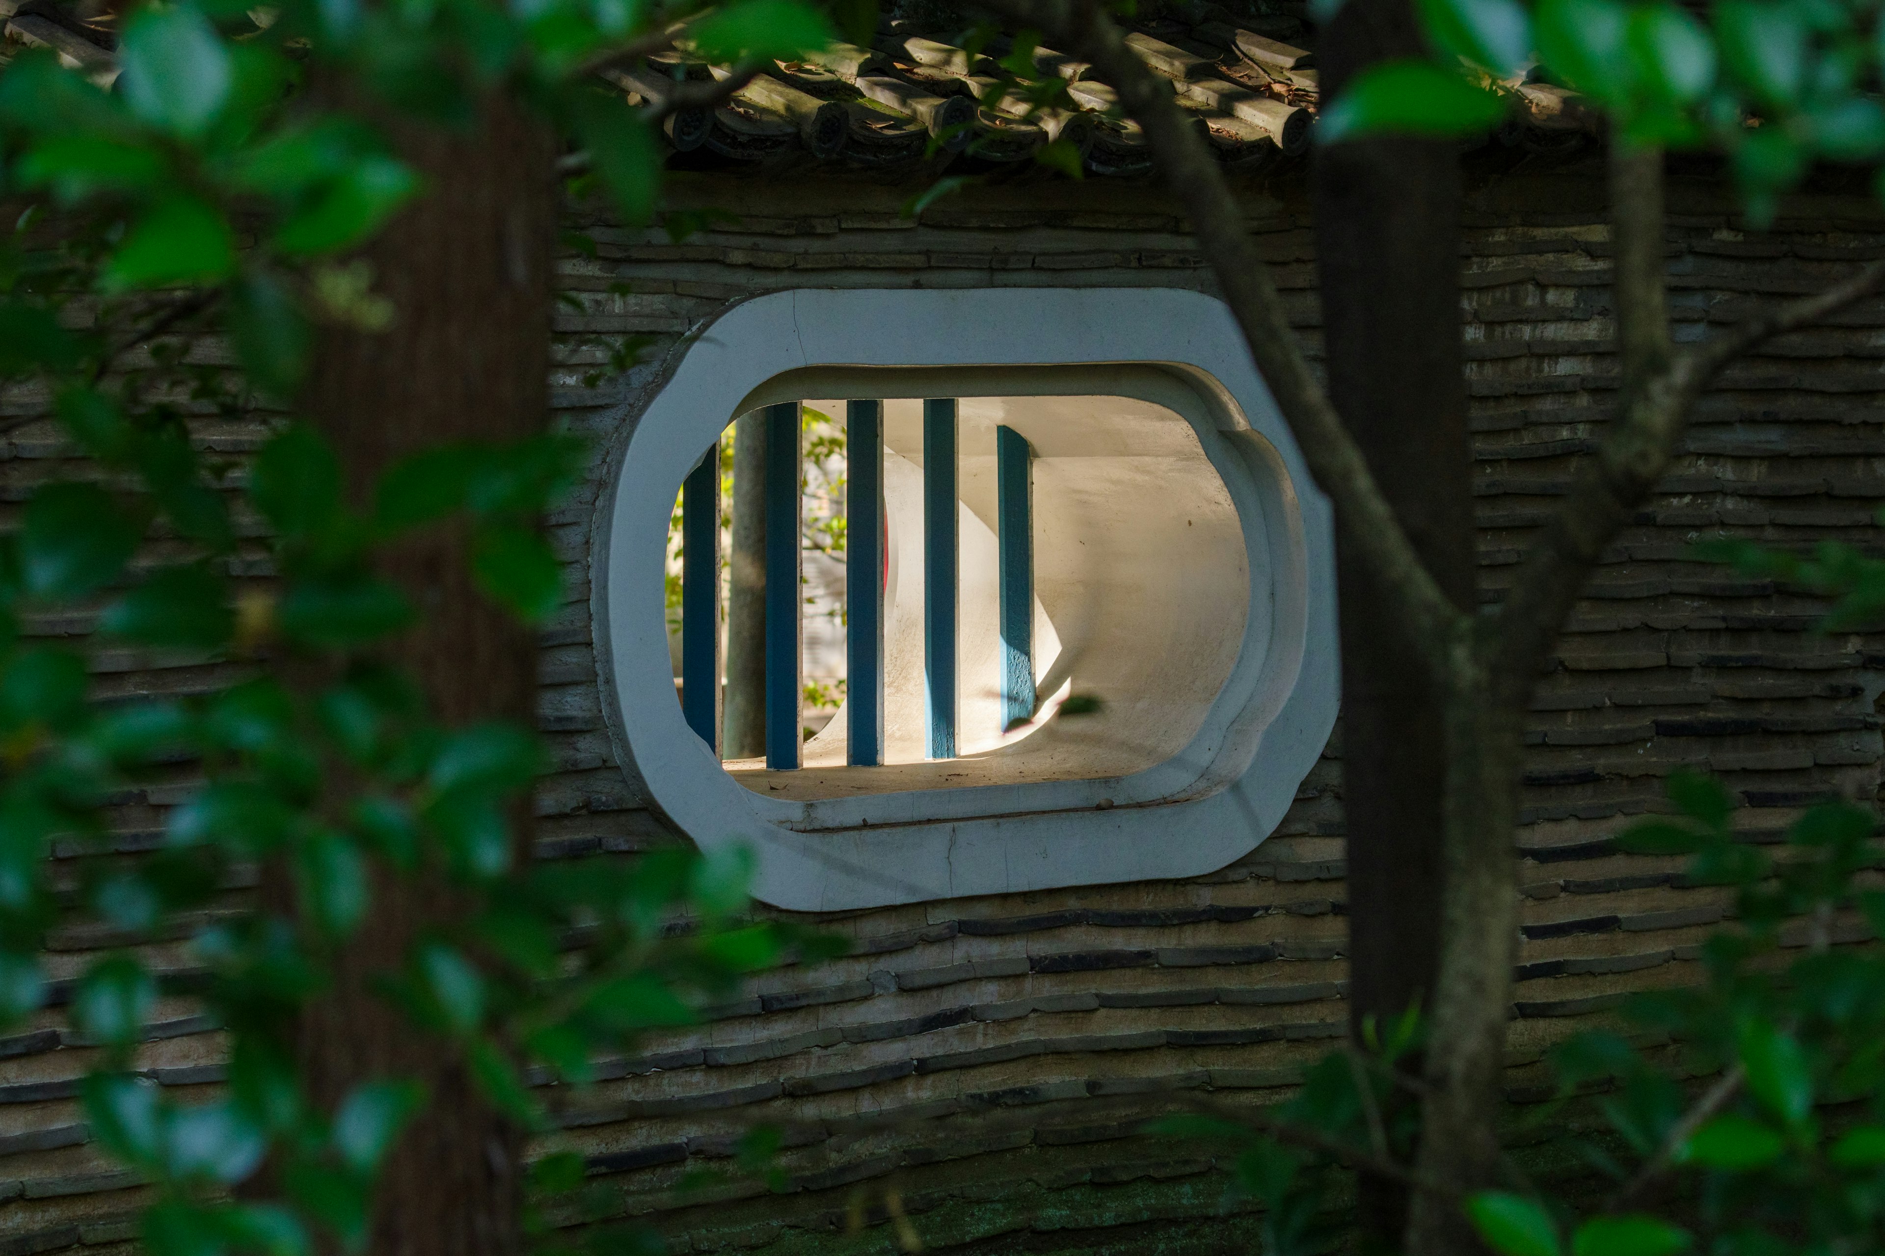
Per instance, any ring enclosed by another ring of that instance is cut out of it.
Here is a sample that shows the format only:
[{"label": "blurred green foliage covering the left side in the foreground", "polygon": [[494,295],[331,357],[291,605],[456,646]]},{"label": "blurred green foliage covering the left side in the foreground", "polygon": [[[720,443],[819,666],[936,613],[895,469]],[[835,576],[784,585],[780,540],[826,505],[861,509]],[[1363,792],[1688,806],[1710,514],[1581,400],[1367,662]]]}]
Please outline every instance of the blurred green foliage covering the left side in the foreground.
[{"label": "blurred green foliage covering the left side in the foreground", "polygon": [[[292,411],[319,324],[398,316],[351,254],[426,188],[373,119],[469,126],[509,92],[588,151],[571,192],[598,185],[647,222],[654,121],[592,70],[673,40],[792,55],[829,30],[797,0],[200,0],[119,17],[115,83],[49,51],[0,68],[0,384],[43,390],[92,467],[34,490],[0,537],[0,1028],[64,1007],[96,1043],[85,1120],[156,1186],[153,1256],[347,1250],[430,1100],[371,1077],[315,1103],[292,1024],[386,878],[447,879],[469,904],[385,957],[386,998],[532,1130],[550,1122],[530,1081],[586,1085],[598,1058],[692,1023],[745,974],[833,947],[754,923],[737,851],[522,861],[535,733],[443,723],[386,663],[417,608],[375,559],[417,529],[462,525],[479,588],[518,618],[564,606],[539,518],[582,467],[577,441],[430,448],[351,505],[309,426],[277,422],[243,475],[204,456],[190,414]],[[305,92],[315,72],[347,90]],[[239,382],[205,365],[219,339]],[[639,350],[609,348],[609,371]],[[234,578],[256,569],[270,578]],[[96,620],[100,644],[234,661],[243,680],[100,700],[51,616]],[[128,849],[113,800],[179,774],[200,783],[162,840]],[[287,874],[292,904],[239,893],[258,864]],[[53,981],[41,951],[72,926],[113,949]],[[230,1081],[207,1102],[139,1071],[145,1026],[177,996],[226,1034]],[[533,1183],[581,1186],[581,1156],[550,1156]]]}]

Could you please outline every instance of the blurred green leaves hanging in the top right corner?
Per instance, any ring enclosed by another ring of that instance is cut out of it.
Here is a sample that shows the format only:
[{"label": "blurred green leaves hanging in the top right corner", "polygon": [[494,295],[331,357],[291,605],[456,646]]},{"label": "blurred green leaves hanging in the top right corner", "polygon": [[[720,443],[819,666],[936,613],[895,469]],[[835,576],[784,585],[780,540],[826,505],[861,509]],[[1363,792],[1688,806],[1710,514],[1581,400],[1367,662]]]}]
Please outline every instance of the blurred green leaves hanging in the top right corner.
[{"label": "blurred green leaves hanging in the top right corner", "polygon": [[1483,136],[1523,83],[1582,92],[1638,145],[1725,153],[1757,220],[1815,162],[1885,158],[1874,0],[1418,0],[1433,60],[1376,66],[1331,102],[1323,143]]}]

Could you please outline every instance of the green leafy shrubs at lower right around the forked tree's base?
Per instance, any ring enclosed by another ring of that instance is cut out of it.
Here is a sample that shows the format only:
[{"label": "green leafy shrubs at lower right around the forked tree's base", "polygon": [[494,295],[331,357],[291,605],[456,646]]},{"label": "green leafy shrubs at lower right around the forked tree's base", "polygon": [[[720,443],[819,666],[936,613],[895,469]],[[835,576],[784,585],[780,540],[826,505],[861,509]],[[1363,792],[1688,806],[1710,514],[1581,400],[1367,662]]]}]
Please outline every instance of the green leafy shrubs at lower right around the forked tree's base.
[{"label": "green leafy shrubs at lower right around the forked tree's base", "polygon": [[[1885,565],[1851,546],[1810,557],[1717,542],[1702,556],[1832,599],[1828,629],[1870,627]],[[1614,1028],[1578,1034],[1549,1064],[1557,1096],[1533,1115],[1598,1179],[1587,1207],[1517,1188],[1461,1201],[1500,1256],[1779,1256],[1885,1247],[1885,864],[1879,819],[1851,802],[1811,806],[1785,834],[1736,823],[1702,774],[1668,781],[1670,812],[1619,845],[1683,859],[1685,881],[1732,896],[1730,925],[1700,947],[1700,985],[1636,994]],[[1868,943],[1868,945],[1836,945]],[[1410,1015],[1369,1051],[1327,1056],[1261,1126],[1216,1120],[1167,1134],[1244,1143],[1242,1188],[1280,1218],[1320,1216],[1335,1166],[1410,1173],[1414,1126],[1395,1124],[1418,1083],[1395,1062],[1419,1039]],[[1401,1109],[1395,1100],[1402,1098]],[[1385,1115],[1385,1120],[1384,1120]],[[1385,1160],[1384,1160],[1385,1156]],[[1286,1166],[1280,1169],[1278,1166]],[[1608,1188],[1602,1183],[1608,1181]],[[1416,1188],[1419,1188],[1416,1184]],[[1270,1256],[1321,1250],[1310,1226],[1270,1224]]]}]

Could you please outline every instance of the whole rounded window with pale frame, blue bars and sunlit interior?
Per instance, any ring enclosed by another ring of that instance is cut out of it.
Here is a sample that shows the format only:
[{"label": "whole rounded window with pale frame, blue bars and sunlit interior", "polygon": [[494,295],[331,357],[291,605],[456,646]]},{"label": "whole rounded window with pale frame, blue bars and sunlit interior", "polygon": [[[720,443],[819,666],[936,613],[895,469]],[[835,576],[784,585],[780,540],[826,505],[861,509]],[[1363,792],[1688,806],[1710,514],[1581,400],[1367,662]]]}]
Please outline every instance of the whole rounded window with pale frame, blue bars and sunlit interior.
[{"label": "whole rounded window with pale frame, blue bars and sunlit interior", "polygon": [[[1206,872],[1274,829],[1321,751],[1329,514],[1208,298],[773,294],[626,420],[598,582],[622,761],[696,842],[750,842],[769,902]],[[731,535],[729,465],[735,497],[763,484],[743,499],[762,548]],[[743,561],[758,595],[731,588]],[[807,682],[843,682],[822,725]],[[756,689],[763,757],[726,738]]]}]

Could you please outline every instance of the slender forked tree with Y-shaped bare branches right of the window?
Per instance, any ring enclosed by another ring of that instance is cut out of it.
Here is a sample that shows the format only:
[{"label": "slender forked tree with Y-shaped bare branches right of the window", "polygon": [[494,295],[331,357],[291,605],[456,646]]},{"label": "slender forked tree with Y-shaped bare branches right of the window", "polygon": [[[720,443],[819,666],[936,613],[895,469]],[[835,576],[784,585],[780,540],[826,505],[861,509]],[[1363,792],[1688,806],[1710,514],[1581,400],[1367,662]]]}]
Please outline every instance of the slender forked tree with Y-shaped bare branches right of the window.
[{"label": "slender forked tree with Y-shaped bare branches right of the window", "polygon": [[1137,121],[1172,196],[1191,218],[1231,314],[1289,424],[1316,484],[1329,493],[1350,554],[1384,614],[1397,616],[1442,695],[1446,721],[1444,915],[1427,1043],[1423,1137],[1404,1252],[1472,1250],[1457,1198],[1499,1175],[1499,1079],[1512,958],[1517,947],[1517,768],[1523,712],[1538,670],[1598,556],[1655,488],[1700,392],[1734,358],[1874,292],[1885,262],[1815,296],[1704,341],[1668,348],[1659,153],[1612,149],[1615,301],[1625,386],[1595,456],[1538,531],[1491,614],[1463,612],[1421,563],[1402,520],[1353,435],[1318,386],[1282,301],[1250,245],[1242,211],[1205,141],[1159,79],[1093,0],[984,0],[1093,66]]}]

